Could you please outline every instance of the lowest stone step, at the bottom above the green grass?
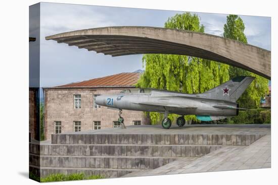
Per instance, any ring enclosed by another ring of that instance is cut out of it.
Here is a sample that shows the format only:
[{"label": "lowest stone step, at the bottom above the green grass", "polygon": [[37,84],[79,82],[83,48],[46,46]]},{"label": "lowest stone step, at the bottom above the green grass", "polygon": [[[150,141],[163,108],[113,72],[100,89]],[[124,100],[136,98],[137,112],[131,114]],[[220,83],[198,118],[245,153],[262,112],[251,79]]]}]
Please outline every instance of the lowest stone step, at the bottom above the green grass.
[{"label": "lowest stone step, at the bottom above the green grass", "polygon": [[84,173],[86,176],[102,175],[105,178],[115,178],[126,175],[128,173],[138,171],[140,169],[113,169],[113,168],[62,168],[62,167],[41,167],[29,165],[29,171],[39,177],[45,177],[50,174],[63,173]]}]

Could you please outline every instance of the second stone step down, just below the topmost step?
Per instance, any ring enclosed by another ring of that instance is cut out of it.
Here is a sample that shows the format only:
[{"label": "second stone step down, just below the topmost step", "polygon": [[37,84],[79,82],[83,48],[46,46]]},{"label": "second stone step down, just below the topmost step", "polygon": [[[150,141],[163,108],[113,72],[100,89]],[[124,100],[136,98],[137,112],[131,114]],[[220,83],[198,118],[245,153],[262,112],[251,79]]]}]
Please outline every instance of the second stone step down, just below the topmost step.
[{"label": "second stone step down, just below the topmost step", "polygon": [[201,157],[221,146],[214,145],[36,145],[29,153],[67,156]]}]

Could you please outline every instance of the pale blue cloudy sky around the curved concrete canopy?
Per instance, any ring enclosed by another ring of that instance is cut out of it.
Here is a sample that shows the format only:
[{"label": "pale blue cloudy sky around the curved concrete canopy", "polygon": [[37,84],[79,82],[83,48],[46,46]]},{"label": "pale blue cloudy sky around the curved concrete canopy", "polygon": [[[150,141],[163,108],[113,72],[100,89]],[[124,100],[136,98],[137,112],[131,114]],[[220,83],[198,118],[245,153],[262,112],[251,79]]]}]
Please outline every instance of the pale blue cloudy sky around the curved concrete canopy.
[{"label": "pale blue cloudy sky around the curved concrete canopy", "polygon": [[[79,82],[143,69],[142,54],[117,56],[78,49],[45,36],[105,26],[164,27],[169,17],[183,12],[102,6],[41,3],[40,87]],[[192,12],[193,13],[193,12]],[[196,13],[205,33],[222,36],[225,14]],[[271,50],[270,18],[241,16],[249,44]]]}]

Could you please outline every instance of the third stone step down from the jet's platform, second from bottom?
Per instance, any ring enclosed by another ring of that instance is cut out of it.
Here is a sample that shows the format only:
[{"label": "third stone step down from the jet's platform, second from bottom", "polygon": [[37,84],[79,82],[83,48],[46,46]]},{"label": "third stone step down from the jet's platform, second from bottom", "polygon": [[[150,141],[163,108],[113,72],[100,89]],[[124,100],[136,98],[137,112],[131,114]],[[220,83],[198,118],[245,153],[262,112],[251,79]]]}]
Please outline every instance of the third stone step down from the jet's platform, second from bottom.
[{"label": "third stone step down from the jet's platform, second from bottom", "polygon": [[[155,169],[181,157],[115,157],[29,155],[29,164],[41,167]],[[186,157],[182,157],[186,158]],[[192,158],[192,157],[190,157]],[[194,158],[195,159],[195,158]]]}]

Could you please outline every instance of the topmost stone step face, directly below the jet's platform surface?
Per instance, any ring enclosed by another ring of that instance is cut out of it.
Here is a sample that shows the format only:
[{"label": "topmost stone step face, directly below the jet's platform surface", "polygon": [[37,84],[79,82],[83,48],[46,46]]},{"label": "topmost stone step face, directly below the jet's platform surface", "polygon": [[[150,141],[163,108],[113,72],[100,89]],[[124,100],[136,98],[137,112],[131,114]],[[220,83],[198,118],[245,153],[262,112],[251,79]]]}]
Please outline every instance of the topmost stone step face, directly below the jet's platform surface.
[{"label": "topmost stone step face, directly below the jet's platform surface", "polygon": [[262,134],[53,134],[52,144],[250,145]]}]

